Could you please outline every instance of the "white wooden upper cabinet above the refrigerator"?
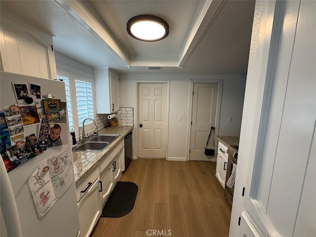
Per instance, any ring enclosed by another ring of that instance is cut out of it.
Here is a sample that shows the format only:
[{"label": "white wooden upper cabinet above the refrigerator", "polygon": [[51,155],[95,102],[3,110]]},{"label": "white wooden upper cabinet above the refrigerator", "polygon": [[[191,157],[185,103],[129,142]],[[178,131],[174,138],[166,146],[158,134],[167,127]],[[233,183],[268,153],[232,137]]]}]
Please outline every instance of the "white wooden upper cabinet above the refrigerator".
[{"label": "white wooden upper cabinet above the refrigerator", "polygon": [[52,36],[27,30],[1,17],[0,49],[3,71],[56,79]]}]

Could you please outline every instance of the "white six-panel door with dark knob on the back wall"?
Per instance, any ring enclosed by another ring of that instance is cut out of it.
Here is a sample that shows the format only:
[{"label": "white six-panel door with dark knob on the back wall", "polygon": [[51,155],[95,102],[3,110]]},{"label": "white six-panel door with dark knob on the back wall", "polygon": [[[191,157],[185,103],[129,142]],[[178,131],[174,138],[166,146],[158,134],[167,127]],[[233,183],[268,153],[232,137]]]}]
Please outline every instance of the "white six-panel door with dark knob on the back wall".
[{"label": "white six-panel door with dark knob on the back wall", "polygon": [[138,84],[138,157],[165,158],[165,83]]}]

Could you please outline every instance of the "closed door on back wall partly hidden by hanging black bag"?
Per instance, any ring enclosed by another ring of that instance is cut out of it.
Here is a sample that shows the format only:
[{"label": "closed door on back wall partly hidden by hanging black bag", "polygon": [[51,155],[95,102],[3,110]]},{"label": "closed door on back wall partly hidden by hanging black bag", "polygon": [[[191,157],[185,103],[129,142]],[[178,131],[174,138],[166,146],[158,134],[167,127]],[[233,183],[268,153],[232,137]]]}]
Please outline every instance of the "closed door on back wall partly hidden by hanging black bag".
[{"label": "closed door on back wall partly hidden by hanging black bag", "polygon": [[[218,83],[194,83],[192,100],[192,124],[190,137],[190,160],[212,160],[205,156],[204,148],[211,126],[215,127]],[[216,128],[215,128],[216,129]],[[214,132],[209,139],[209,149],[213,147]]]}]

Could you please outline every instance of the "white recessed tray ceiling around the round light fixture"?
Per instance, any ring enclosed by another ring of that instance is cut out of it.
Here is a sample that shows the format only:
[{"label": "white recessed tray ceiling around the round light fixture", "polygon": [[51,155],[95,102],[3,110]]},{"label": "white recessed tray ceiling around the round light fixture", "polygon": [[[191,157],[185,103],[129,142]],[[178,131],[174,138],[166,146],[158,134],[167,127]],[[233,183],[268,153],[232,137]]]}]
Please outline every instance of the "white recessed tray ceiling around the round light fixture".
[{"label": "white recessed tray ceiling around the round light fixture", "polygon": [[[51,34],[56,51],[91,67],[120,73],[247,71],[254,0],[1,0],[0,10]],[[167,38],[130,37],[126,22],[140,14],[166,20]]]}]

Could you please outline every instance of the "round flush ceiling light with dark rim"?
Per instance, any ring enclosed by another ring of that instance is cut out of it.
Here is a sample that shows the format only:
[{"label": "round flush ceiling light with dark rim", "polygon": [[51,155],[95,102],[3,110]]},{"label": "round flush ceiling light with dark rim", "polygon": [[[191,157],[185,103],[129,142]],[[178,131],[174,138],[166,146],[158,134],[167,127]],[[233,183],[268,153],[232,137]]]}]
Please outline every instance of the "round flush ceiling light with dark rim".
[{"label": "round flush ceiling light with dark rim", "polygon": [[128,34],[142,41],[158,41],[169,34],[168,23],[158,16],[138,15],[127,21]]}]

